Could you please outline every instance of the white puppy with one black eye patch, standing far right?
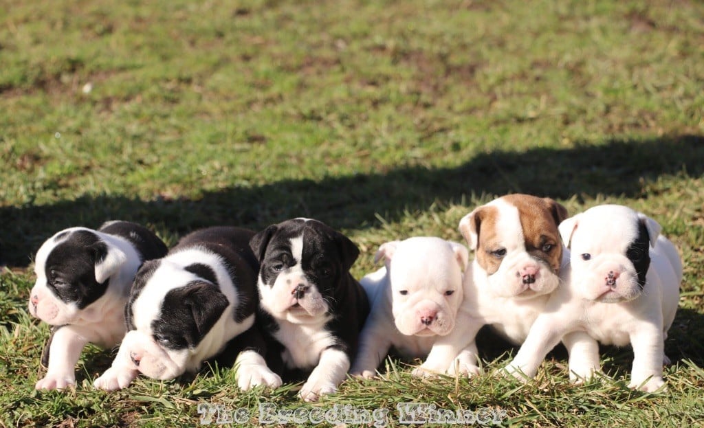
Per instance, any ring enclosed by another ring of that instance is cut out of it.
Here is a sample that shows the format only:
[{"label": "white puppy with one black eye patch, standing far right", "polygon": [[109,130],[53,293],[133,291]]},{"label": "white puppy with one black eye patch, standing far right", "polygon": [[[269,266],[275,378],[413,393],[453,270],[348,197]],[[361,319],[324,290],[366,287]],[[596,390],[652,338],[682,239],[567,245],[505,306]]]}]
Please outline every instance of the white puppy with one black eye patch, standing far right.
[{"label": "white puppy with one black eye patch, standing far right", "polygon": [[571,251],[567,284],[551,296],[513,361],[517,377],[534,377],[546,353],[562,339],[570,351],[570,378],[600,370],[598,342],[631,344],[631,388],[655,391],[669,363],[664,341],[679,301],[682,263],[660,225],[617,205],[596,206],[560,225]]}]

